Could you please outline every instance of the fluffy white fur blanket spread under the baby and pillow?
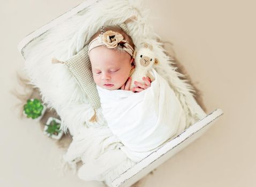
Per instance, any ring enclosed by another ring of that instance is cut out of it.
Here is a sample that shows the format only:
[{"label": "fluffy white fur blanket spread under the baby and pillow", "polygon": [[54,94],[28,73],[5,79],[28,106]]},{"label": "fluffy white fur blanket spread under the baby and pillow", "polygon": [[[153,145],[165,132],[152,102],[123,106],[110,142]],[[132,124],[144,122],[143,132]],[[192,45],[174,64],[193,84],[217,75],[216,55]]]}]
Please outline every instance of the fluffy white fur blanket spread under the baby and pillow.
[{"label": "fluffy white fur blanket spread under the baby and pillow", "polygon": [[[49,107],[55,108],[61,116],[62,128],[68,128],[73,136],[73,142],[65,157],[70,163],[78,160],[85,161],[89,151],[95,153],[93,154],[95,158],[106,150],[115,150],[119,143],[111,138],[112,135],[109,134],[107,127],[88,127],[88,125],[104,125],[105,120],[102,117],[97,124],[89,123],[93,110],[85,93],[82,92],[67,67],[62,64],[52,65],[51,58],[69,59],[88,43],[89,38],[102,25],[120,25],[134,15],[137,20],[127,24],[134,44],[147,42],[154,46],[154,52],[161,62],[156,71],[174,90],[185,113],[186,127],[205,116],[205,112],[193,98],[193,88],[186,80],[179,79],[183,75],[175,71],[176,67],[172,66],[173,63],[162,48],[160,38],[149,25],[148,10],[145,10],[142,2],[138,0],[98,1],[35,38],[24,50],[25,69],[32,80],[31,83],[40,89],[44,102]],[[97,112],[101,113],[101,108]],[[99,129],[103,131],[102,139],[97,139],[99,147],[90,147],[86,142],[94,142],[95,134],[100,132]],[[108,145],[100,143],[103,137],[110,138]],[[111,142],[114,146],[111,146]],[[111,180],[134,164],[127,158],[119,161],[121,163],[109,169],[108,172],[102,171],[101,180],[105,180],[108,185]]]}]

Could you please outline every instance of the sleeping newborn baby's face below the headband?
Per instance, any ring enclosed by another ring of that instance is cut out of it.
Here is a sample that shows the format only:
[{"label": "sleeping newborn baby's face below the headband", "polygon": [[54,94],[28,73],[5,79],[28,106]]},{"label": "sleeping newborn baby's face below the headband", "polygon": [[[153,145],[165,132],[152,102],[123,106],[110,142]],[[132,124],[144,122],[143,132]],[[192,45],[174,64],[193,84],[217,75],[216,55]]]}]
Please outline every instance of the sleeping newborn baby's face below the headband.
[{"label": "sleeping newborn baby's face below the headband", "polygon": [[89,52],[96,85],[108,90],[122,87],[132,69],[132,57],[125,51],[99,46]]}]

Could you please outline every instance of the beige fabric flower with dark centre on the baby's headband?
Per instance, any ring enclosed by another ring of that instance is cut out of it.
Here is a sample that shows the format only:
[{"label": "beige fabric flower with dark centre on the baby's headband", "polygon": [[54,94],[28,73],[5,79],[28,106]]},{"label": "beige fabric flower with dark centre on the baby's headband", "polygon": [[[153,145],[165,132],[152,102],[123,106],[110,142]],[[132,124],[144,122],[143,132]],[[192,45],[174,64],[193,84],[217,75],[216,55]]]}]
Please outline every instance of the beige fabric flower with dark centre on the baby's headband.
[{"label": "beige fabric flower with dark centre on the baby's headband", "polygon": [[102,42],[106,44],[107,48],[116,48],[117,45],[124,40],[124,37],[120,33],[116,33],[112,30],[108,30],[102,35]]}]

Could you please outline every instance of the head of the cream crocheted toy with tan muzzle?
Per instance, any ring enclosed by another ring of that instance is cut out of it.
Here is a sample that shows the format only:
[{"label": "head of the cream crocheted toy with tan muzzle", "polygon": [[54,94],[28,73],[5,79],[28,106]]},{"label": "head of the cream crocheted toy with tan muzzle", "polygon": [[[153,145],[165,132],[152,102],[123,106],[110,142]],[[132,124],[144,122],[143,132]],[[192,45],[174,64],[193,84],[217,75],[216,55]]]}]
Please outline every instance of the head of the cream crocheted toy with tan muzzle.
[{"label": "head of the cream crocheted toy with tan muzzle", "polygon": [[135,57],[135,66],[150,69],[154,64],[155,58],[154,53],[147,49],[147,48],[141,48],[137,51],[136,57]]}]

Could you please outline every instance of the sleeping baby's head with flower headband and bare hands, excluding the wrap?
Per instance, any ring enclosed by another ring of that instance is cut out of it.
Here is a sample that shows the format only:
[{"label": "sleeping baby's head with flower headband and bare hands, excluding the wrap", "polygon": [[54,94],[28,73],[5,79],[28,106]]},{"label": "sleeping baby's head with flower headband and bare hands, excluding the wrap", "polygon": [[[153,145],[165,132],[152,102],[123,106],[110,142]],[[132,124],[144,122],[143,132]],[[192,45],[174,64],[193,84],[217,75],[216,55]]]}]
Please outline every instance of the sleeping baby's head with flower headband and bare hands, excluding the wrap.
[{"label": "sleeping baby's head with flower headband and bare hands, excluding the wrap", "polygon": [[[108,29],[108,31],[106,32],[104,29]],[[95,35],[96,38],[94,38]],[[98,32],[95,35],[88,45],[88,54],[96,85],[108,90],[130,90],[132,80],[129,75],[133,68],[132,55],[134,49],[131,37],[123,32],[121,28],[115,27],[102,27],[101,33]],[[111,38],[113,35],[115,37]],[[134,82],[137,87],[134,87],[131,91],[140,92],[150,87],[149,79],[143,77],[142,81],[144,82]]]}]

